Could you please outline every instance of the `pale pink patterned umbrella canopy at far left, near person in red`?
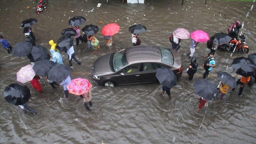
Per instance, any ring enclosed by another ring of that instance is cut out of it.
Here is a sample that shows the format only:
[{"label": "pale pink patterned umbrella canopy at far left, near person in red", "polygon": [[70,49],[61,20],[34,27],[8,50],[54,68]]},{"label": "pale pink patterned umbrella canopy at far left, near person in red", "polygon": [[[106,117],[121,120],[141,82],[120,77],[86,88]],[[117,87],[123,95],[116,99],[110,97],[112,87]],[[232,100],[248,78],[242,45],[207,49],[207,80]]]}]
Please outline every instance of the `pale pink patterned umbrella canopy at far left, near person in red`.
[{"label": "pale pink patterned umbrella canopy at far left, near person in red", "polygon": [[31,64],[26,65],[25,67],[22,67],[16,74],[17,81],[21,83],[31,81],[35,75],[36,73],[33,69],[33,65]]}]

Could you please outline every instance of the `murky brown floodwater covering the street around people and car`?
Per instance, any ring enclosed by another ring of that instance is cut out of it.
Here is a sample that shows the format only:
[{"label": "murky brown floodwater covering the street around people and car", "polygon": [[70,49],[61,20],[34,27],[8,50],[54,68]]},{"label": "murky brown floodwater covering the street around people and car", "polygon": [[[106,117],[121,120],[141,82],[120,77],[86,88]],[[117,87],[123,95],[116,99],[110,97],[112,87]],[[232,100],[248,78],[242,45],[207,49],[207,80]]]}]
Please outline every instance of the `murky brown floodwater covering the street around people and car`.
[{"label": "murky brown floodwater covering the street around people and car", "polygon": [[[147,27],[140,35],[142,45],[171,47],[169,35],[176,28],[185,28],[190,32],[204,30],[212,36],[226,32],[235,20],[244,21],[242,29],[247,36],[250,53],[255,53],[255,2],[226,1],[161,1],[146,0],[144,4],[121,4],[121,1],[58,1],[51,0],[46,10],[36,14],[33,0],[1,0],[1,32],[14,46],[24,41],[22,20],[36,18],[32,26],[36,44],[50,49],[49,40],[60,38],[63,29],[70,27],[68,20],[73,16],[86,18],[85,25],[102,27],[108,23],[120,25],[120,31],[113,36],[111,49],[105,46],[103,35],[99,31],[96,37],[100,41],[98,53],[87,49],[87,44],[75,46],[76,57],[82,62],[78,66],[73,62],[71,78],[86,78],[92,81],[92,64],[100,56],[132,46],[128,28],[134,23]],[[97,3],[102,3],[97,8]],[[26,9],[30,6],[29,9]],[[88,12],[92,10],[91,12]],[[247,19],[246,14],[250,11]],[[103,22],[99,24],[99,21]],[[248,35],[248,32],[251,35]],[[179,50],[182,58],[183,74],[177,86],[171,91],[172,99],[162,96],[158,83],[116,86],[114,88],[97,86],[92,83],[92,103],[89,113],[83,107],[83,99],[70,94],[63,98],[62,87],[52,89],[40,80],[43,94],[39,94],[26,83],[31,90],[29,105],[37,115],[24,114],[20,108],[8,104],[3,98],[6,86],[16,82],[16,73],[30,61],[9,55],[1,48],[1,88],[0,88],[0,143],[255,143],[256,139],[256,85],[245,86],[242,95],[238,89],[229,91],[224,101],[219,98],[210,102],[207,108],[197,113],[198,98],[193,83],[203,77],[203,68],[198,68],[192,81],[188,81],[186,61],[191,39],[181,41]],[[199,43],[194,56],[198,65],[203,64],[202,56],[209,53],[206,43]],[[68,65],[68,56],[63,55]],[[213,68],[207,79],[219,83],[216,72],[232,71],[233,58],[245,56],[235,53],[230,58],[227,51],[217,50],[214,58],[217,67]]]}]

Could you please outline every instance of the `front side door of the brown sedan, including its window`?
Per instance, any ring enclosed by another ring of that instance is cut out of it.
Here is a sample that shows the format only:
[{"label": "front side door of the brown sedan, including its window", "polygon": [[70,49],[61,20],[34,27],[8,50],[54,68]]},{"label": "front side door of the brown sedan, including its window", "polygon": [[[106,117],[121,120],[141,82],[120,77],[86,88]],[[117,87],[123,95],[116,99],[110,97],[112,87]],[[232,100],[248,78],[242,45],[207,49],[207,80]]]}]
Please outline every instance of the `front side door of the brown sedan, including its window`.
[{"label": "front side door of the brown sedan, including its window", "polygon": [[[117,84],[135,84],[138,83],[137,79],[140,77],[142,64],[132,64],[128,65],[125,68],[121,69],[119,76],[115,78]],[[121,75],[121,73],[123,75]]]}]

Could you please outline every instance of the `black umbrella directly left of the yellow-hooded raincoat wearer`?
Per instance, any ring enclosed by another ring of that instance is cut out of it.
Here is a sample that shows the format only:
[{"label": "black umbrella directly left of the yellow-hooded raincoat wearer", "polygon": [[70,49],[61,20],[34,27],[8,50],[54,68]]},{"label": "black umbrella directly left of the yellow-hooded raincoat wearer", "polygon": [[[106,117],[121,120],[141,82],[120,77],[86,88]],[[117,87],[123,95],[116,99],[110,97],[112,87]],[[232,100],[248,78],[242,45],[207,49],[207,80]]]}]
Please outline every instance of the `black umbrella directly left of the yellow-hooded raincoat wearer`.
[{"label": "black umbrella directly left of the yellow-hooded raincoat wearer", "polygon": [[32,48],[31,54],[35,61],[43,60],[43,59],[50,59],[51,56],[46,48],[41,45],[34,46]]}]

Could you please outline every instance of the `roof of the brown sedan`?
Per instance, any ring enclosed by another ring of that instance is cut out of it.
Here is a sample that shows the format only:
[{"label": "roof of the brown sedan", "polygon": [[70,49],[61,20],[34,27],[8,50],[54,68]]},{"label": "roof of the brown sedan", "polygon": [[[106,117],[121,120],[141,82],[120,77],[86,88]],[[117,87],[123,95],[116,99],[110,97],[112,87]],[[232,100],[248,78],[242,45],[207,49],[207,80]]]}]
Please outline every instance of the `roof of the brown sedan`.
[{"label": "roof of the brown sedan", "polygon": [[162,55],[158,46],[135,46],[126,49],[128,64],[161,62]]}]

